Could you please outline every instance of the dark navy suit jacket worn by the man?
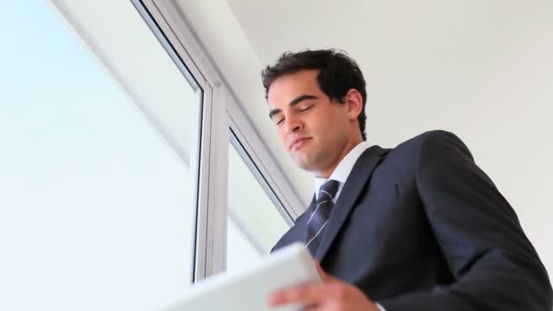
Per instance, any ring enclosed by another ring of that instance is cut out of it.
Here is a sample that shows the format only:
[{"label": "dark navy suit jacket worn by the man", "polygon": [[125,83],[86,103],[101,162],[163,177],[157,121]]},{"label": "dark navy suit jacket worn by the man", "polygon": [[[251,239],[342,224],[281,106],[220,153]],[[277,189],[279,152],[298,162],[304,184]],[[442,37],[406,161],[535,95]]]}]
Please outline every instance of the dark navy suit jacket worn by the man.
[{"label": "dark navy suit jacket worn by the man", "polygon": [[[274,249],[305,241],[299,216]],[[387,311],[550,311],[548,274],[518,216],[456,135],[372,146],[348,176],[317,259]]]}]

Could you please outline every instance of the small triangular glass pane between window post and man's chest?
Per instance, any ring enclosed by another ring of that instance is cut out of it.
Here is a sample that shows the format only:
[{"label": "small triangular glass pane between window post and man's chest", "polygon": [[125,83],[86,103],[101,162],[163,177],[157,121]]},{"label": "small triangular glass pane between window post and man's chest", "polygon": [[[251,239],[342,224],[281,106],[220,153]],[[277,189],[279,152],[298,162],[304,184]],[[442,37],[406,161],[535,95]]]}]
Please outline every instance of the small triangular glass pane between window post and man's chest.
[{"label": "small triangular glass pane between window post and man's chest", "polygon": [[228,179],[226,271],[235,271],[268,254],[289,226],[232,144]]}]

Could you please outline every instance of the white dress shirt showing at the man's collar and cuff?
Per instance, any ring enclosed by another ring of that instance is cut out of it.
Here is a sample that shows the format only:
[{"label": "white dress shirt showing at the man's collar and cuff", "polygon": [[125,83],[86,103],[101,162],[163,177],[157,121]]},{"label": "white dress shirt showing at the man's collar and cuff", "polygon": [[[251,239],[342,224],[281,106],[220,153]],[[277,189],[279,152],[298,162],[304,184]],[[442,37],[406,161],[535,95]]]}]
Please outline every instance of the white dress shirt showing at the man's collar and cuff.
[{"label": "white dress shirt showing at the man's collar and cuff", "polygon": [[[351,170],[353,169],[353,166],[356,164],[357,159],[359,156],[365,152],[371,145],[367,143],[366,141],[363,141],[359,143],[359,145],[356,145],[353,149],[347,153],[346,156],[338,163],[336,168],[334,169],[334,172],[330,175],[328,178],[318,178],[315,177],[315,199],[318,198],[318,191],[327,182],[328,179],[336,180],[339,182],[338,190],[336,193],[336,196],[332,198],[332,202],[336,203],[338,196],[340,196],[340,193],[342,192],[342,188],[344,187],[344,184],[346,183],[347,176],[351,173]],[[384,307],[380,306],[378,303],[375,302],[375,305],[377,305],[377,308],[380,311],[386,311]]]}]

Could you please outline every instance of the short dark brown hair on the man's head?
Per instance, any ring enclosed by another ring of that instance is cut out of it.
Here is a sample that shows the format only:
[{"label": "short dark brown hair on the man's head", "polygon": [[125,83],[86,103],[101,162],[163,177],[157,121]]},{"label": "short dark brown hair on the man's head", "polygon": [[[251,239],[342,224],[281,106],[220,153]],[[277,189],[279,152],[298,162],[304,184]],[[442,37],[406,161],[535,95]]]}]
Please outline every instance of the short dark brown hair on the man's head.
[{"label": "short dark brown hair on the man's head", "polygon": [[331,100],[344,103],[347,92],[355,88],[363,98],[363,109],[357,117],[363,140],[367,140],[365,134],[365,105],[367,103],[367,90],[363,73],[356,61],[334,49],[301,51],[297,53],[285,52],[278,58],[277,64],[266,68],[261,73],[265,97],[267,98],[269,87],[283,75],[295,74],[302,70],[318,69],[317,82],[323,93]]}]

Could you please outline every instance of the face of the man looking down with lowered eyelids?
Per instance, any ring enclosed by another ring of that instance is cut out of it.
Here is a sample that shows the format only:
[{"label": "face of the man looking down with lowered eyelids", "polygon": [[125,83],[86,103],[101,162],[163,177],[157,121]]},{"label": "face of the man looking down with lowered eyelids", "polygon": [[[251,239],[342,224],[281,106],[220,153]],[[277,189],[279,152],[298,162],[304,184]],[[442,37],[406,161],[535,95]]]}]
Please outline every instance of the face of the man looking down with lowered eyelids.
[{"label": "face of the man looking down with lowered eyelids", "polygon": [[327,177],[362,140],[357,124],[360,106],[347,99],[351,91],[345,104],[330,100],[320,89],[317,74],[305,70],[283,75],[270,86],[267,98],[280,141],[297,166]]}]

